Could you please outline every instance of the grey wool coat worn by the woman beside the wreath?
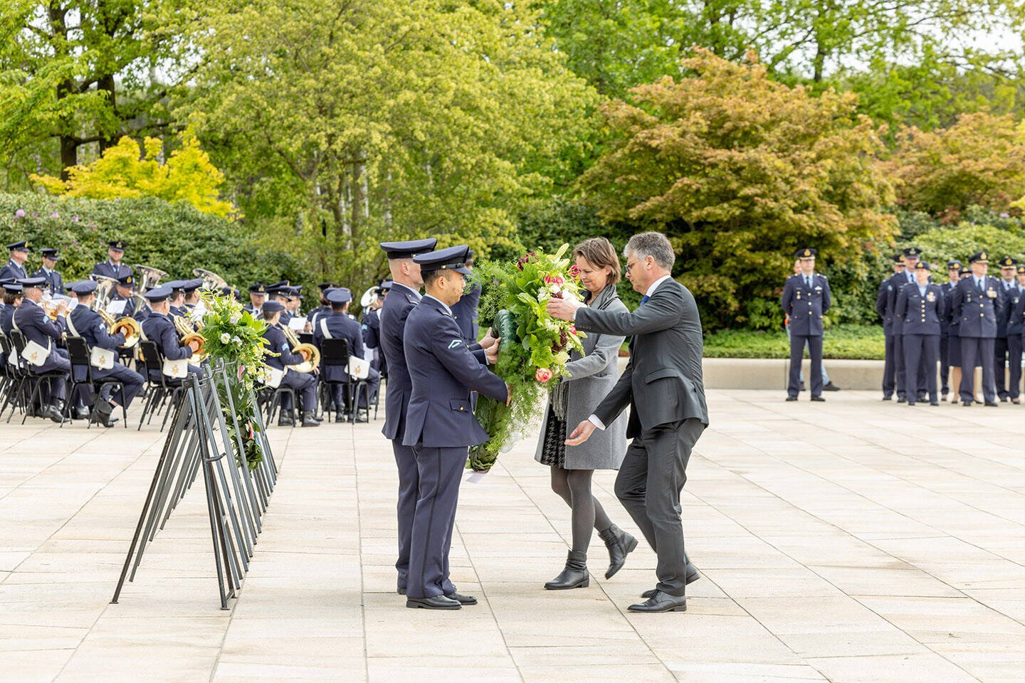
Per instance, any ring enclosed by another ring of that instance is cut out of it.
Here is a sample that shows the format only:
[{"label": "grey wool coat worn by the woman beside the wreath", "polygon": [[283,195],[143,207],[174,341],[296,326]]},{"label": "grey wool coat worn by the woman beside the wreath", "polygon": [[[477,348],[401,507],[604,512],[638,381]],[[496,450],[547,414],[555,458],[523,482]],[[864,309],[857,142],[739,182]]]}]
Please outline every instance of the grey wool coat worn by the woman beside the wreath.
[{"label": "grey wool coat worn by the woman beside the wreath", "polygon": [[[594,297],[590,308],[615,312],[629,312],[619,300],[615,285],[606,287]],[[602,402],[619,376],[617,358],[619,347],[625,337],[589,332],[582,339],[584,353],[570,354],[566,370],[570,376],[563,378],[569,391],[569,407],[566,410],[566,433],[569,435],[578,424],[586,420]],[[537,441],[534,459],[541,460],[544,447],[544,432],[548,421],[548,407],[551,393],[544,405],[541,432]],[[605,431],[594,430],[590,438],[580,445],[566,446],[566,469],[568,470],[618,470],[626,455],[626,418],[616,418]]]}]

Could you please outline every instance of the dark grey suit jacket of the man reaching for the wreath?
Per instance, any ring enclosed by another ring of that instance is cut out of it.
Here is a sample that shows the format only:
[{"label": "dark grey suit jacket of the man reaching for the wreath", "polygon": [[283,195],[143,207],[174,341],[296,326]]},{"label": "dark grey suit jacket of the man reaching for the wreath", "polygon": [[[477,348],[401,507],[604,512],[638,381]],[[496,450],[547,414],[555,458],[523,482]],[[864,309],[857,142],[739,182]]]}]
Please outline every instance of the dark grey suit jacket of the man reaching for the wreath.
[{"label": "dark grey suit jacket of the man reaching for the wreath", "polygon": [[576,327],[584,332],[631,336],[626,370],[594,409],[604,424],[612,424],[627,405],[628,438],[688,418],[708,424],[701,377],[701,316],[694,295],[686,287],[666,280],[632,313],[580,308]]}]

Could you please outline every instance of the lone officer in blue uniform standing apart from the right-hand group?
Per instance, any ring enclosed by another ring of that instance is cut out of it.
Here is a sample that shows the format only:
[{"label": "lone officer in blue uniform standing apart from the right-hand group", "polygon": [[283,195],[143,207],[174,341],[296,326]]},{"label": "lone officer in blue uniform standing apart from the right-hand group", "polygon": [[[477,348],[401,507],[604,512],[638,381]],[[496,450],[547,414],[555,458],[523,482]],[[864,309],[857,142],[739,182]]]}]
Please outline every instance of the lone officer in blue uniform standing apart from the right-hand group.
[{"label": "lone officer in blue uniform standing apart from the right-hand group", "polygon": [[786,387],[786,399],[797,400],[801,391],[801,360],[805,355],[805,344],[812,359],[812,400],[822,397],[822,315],[829,310],[832,299],[829,281],[815,272],[814,249],[798,249],[795,256],[801,260],[801,274],[788,278],[783,286],[780,305],[790,318],[790,377]]}]

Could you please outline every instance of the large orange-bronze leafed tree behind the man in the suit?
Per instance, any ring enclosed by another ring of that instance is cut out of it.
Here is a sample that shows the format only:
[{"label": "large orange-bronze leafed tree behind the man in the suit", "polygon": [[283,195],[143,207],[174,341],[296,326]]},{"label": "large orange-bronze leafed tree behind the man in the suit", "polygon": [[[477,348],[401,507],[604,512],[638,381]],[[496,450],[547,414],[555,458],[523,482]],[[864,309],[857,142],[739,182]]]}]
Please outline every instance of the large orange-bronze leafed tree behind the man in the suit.
[{"label": "large orange-bronze leafed tree behind the man in the suit", "polygon": [[664,230],[710,327],[772,327],[794,249],[824,264],[892,241],[878,131],[857,96],[772,82],[765,67],[699,51],[689,78],[604,109],[614,138],[581,177],[606,220]]}]

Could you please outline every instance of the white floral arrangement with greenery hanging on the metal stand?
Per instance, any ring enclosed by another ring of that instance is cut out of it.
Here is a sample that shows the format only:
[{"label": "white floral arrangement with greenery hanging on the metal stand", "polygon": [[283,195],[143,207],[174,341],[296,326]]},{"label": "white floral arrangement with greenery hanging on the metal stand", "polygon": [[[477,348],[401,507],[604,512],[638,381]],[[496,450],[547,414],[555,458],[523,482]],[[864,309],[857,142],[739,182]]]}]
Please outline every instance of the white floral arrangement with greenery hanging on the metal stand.
[{"label": "white floral arrangement with greenery hanging on the metal stand", "polygon": [[[239,467],[250,470],[263,459],[263,453],[256,439],[259,426],[256,423],[256,404],[253,399],[254,382],[264,376],[263,331],[266,325],[257,321],[234,297],[220,296],[212,292],[202,294],[206,314],[203,316],[203,351],[211,358],[223,360],[228,372],[225,384],[215,383],[219,393],[220,409],[224,414],[229,435],[236,444],[235,458]],[[231,396],[231,403],[229,403]],[[235,407],[235,414],[231,412]],[[241,434],[235,430],[236,421]],[[242,452],[238,444],[242,444]]]}]

